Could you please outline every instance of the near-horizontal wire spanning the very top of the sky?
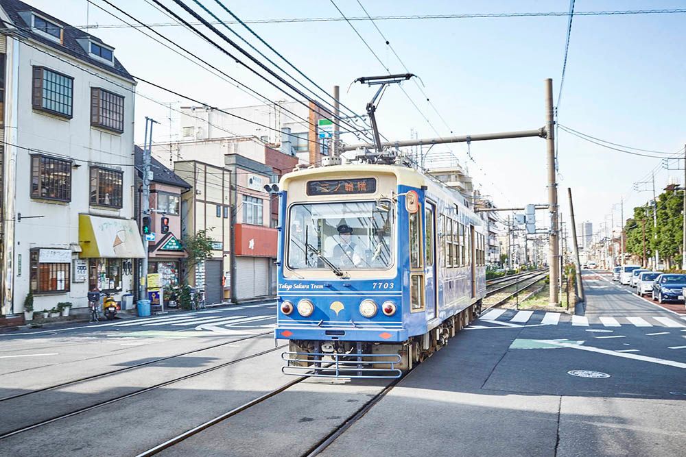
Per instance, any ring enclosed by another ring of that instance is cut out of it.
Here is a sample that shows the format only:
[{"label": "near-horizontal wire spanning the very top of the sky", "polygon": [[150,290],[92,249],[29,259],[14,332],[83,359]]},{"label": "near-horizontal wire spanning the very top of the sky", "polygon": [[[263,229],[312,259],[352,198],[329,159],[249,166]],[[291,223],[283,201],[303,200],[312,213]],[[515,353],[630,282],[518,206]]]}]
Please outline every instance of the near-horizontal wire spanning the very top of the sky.
[{"label": "near-horizontal wire spanning the very top of the sky", "polygon": [[[624,16],[628,14],[684,14],[686,8],[663,8],[654,10],[600,10],[600,11],[577,11],[574,16]],[[472,19],[472,18],[517,18],[517,17],[556,17],[569,16],[566,11],[549,12],[504,12],[504,13],[473,13],[473,14],[407,14],[396,16],[373,16],[375,21],[426,21],[435,19]],[[349,21],[368,21],[369,18],[349,17]],[[308,22],[342,22],[340,17],[311,17],[311,18],[263,18],[243,21],[246,24],[280,24],[280,23],[308,23]],[[234,24],[238,22],[232,22]],[[193,23],[193,25],[201,25]],[[217,25],[217,24],[215,24]],[[178,23],[151,23],[152,27],[178,27]],[[119,24],[106,25],[80,25],[80,29],[115,29],[121,28]]]}]

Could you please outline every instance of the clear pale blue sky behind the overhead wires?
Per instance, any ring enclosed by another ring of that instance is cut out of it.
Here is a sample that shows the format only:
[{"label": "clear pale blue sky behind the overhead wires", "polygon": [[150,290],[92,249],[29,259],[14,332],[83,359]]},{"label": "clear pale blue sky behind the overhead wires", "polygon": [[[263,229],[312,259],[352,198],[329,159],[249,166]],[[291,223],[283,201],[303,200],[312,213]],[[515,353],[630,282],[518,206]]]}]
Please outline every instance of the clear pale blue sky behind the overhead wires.
[{"label": "clear pale blue sky behind the overhead wires", "polygon": [[[101,0],[93,0],[110,9]],[[169,18],[140,0],[111,0],[147,23]],[[29,3],[73,25],[119,23],[86,0],[29,0]],[[165,0],[165,4],[172,3]],[[192,1],[188,1],[193,5]],[[204,0],[220,17],[213,0]],[[364,16],[357,1],[337,0],[348,16]],[[362,0],[372,16],[484,12],[567,11],[568,1],[386,1]],[[226,2],[244,19],[340,16],[324,0],[252,0]],[[576,1],[576,11],[685,8],[684,1]],[[197,7],[195,7],[197,9]],[[119,13],[117,13],[119,14]],[[677,151],[686,143],[686,14],[576,16],[573,19],[567,74],[560,103],[563,125],[599,138],[633,147]],[[404,72],[369,22],[353,22],[394,73]],[[543,80],[554,79],[557,99],[565,50],[567,17],[464,18],[422,21],[378,21],[395,51],[412,73],[421,77],[425,92],[447,121],[438,118],[414,84],[405,84],[421,112],[441,136],[476,134],[543,126]],[[383,74],[381,64],[345,22],[256,24],[254,29],[322,87],[339,84],[342,101],[357,112],[372,95],[366,86],[348,84],[362,75]],[[237,79],[270,99],[286,97],[181,27],[161,27],[187,49],[212,60]],[[116,47],[117,58],[134,75],[151,79],[215,106],[255,103],[230,84],[182,60],[132,29],[93,29],[95,36]],[[158,101],[187,104],[178,97],[139,84],[139,93]],[[556,101],[557,103],[557,101]],[[137,140],[142,140],[143,116],[163,121],[156,140],[169,138],[169,110],[143,97],[137,99]],[[172,119],[177,117],[172,112]],[[381,131],[388,138],[436,136],[423,116],[398,88],[390,88],[378,110]],[[176,132],[174,132],[176,133]],[[438,148],[438,146],[436,147]],[[499,206],[545,203],[545,141],[539,138],[473,143],[476,163],[466,158],[464,145],[451,149],[469,167],[482,193]],[[657,186],[683,172],[667,172],[660,160],[610,151],[560,132],[559,175],[563,219],[568,220],[567,187],[575,195],[577,220],[590,220],[594,230],[613,203],[626,201],[625,215],[646,199],[632,183],[657,167]],[[615,221],[619,219],[616,213]]]}]

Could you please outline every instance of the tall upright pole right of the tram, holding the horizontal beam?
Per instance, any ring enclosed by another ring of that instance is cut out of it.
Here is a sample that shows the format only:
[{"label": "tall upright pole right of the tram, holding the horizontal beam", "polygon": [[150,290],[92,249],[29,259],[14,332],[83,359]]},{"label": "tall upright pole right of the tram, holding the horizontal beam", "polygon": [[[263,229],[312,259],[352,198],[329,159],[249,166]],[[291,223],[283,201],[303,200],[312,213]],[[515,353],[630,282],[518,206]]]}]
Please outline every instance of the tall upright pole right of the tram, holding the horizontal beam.
[{"label": "tall upright pole right of the tram, holding the horizontal beam", "polygon": [[553,116],[553,80],[545,79],[545,142],[547,145],[548,168],[548,211],[550,212],[550,234],[548,236],[548,263],[550,267],[551,305],[557,306],[560,297],[560,245],[558,244],[558,200],[555,171],[555,121]]}]

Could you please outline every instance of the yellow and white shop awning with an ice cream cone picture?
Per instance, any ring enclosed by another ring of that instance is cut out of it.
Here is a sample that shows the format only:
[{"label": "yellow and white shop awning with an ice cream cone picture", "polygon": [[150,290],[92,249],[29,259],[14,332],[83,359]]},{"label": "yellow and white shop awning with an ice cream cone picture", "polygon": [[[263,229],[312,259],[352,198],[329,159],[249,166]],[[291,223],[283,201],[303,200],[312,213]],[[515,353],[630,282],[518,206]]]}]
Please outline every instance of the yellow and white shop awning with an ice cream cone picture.
[{"label": "yellow and white shop awning with an ice cream cone picture", "polygon": [[145,249],[132,219],[79,214],[80,258],[143,258]]}]

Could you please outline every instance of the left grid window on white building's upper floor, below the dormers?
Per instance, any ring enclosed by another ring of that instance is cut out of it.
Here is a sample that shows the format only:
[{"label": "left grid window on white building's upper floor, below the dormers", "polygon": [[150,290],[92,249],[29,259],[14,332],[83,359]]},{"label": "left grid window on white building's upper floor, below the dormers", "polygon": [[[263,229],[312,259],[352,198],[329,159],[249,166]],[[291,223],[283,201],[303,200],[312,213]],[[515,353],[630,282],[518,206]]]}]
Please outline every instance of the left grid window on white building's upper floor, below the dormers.
[{"label": "left grid window on white building's upper floor, below the dormers", "polygon": [[43,66],[34,66],[34,109],[71,119],[73,92],[73,77],[62,75]]}]

